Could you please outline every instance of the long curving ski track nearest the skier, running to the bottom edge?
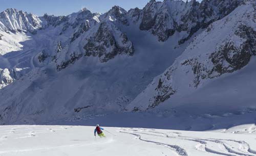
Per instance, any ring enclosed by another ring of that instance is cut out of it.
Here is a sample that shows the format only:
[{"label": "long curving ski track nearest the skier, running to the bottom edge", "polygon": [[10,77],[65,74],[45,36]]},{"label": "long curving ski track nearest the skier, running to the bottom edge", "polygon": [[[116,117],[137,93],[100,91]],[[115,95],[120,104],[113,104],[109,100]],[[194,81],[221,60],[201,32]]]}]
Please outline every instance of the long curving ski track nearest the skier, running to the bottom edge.
[{"label": "long curving ski track nearest the skier, running to the bottom edge", "polygon": [[125,133],[125,134],[131,134],[134,135],[136,137],[139,138],[139,140],[144,141],[144,142],[151,142],[151,143],[155,143],[157,145],[162,145],[162,146],[168,146],[172,149],[174,149],[179,155],[181,156],[187,156],[187,152],[185,149],[181,148],[178,145],[169,145],[169,144],[165,144],[165,143],[160,143],[160,142],[156,142],[156,141],[150,141],[150,140],[144,140],[141,138],[141,136],[139,134],[134,134],[134,133],[129,133],[129,132],[119,132],[119,133]]}]

